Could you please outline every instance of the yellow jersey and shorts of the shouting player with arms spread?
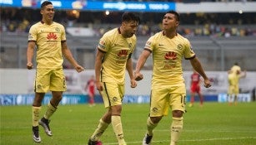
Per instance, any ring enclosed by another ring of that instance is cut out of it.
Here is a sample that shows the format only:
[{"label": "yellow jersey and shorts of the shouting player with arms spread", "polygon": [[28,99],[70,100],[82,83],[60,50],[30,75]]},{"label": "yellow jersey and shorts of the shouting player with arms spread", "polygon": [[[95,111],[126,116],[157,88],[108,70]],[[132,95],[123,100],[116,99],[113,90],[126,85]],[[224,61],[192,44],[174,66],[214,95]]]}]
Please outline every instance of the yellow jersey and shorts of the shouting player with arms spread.
[{"label": "yellow jersey and shorts of the shouting player with arms spread", "polygon": [[195,57],[188,39],[179,34],[170,39],[160,31],[148,39],[144,49],[153,53],[150,116],[167,115],[170,106],[185,112],[182,60]]}]

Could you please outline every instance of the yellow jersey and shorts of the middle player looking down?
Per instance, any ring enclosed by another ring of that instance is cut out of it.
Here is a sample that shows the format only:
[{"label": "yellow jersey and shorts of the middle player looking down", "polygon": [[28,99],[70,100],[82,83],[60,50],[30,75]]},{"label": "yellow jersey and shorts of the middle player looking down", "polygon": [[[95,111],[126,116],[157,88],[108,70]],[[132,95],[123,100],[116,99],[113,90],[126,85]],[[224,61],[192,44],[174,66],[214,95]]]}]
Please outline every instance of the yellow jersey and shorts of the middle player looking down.
[{"label": "yellow jersey and shorts of the middle player looking down", "polygon": [[106,32],[98,43],[98,51],[105,53],[101,70],[105,107],[122,104],[127,60],[136,47],[136,36],[124,38],[119,28]]}]

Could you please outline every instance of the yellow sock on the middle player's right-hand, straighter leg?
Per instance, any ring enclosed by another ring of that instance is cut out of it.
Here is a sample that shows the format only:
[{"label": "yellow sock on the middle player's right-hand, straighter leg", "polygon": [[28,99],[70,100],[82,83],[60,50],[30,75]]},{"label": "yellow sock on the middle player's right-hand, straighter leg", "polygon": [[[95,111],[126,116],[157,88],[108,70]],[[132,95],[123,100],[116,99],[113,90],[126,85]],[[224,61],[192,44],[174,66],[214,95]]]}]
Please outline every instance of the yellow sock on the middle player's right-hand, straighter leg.
[{"label": "yellow sock on the middle player's right-hand, straighter leg", "polygon": [[126,144],[123,138],[123,127],[120,116],[111,116],[113,132],[116,134],[118,139],[118,145]]}]

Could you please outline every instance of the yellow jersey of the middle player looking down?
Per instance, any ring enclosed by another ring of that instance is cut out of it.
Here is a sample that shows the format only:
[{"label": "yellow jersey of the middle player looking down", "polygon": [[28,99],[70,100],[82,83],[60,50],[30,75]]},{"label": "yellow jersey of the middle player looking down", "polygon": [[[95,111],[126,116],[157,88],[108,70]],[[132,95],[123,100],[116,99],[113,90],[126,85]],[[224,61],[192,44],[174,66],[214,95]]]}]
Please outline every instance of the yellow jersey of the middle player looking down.
[{"label": "yellow jersey of the middle player looking down", "polygon": [[98,50],[105,54],[101,70],[103,82],[124,84],[126,63],[137,43],[135,35],[124,38],[119,28],[107,31],[98,43]]}]

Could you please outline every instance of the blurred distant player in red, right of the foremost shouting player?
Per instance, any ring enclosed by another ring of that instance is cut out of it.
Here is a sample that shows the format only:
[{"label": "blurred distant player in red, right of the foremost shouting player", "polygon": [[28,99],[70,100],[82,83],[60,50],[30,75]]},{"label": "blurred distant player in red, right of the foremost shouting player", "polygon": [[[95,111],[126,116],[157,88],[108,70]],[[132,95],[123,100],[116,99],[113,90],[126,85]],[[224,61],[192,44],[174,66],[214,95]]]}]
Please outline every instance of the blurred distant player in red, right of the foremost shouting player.
[{"label": "blurred distant player in red, right of the foremost shouting player", "polygon": [[201,93],[201,79],[200,75],[198,74],[197,71],[193,70],[193,74],[190,76],[191,77],[191,85],[190,85],[190,104],[189,107],[193,106],[194,102],[194,96],[197,93],[198,97],[200,99],[200,106],[203,106],[203,94]]}]

